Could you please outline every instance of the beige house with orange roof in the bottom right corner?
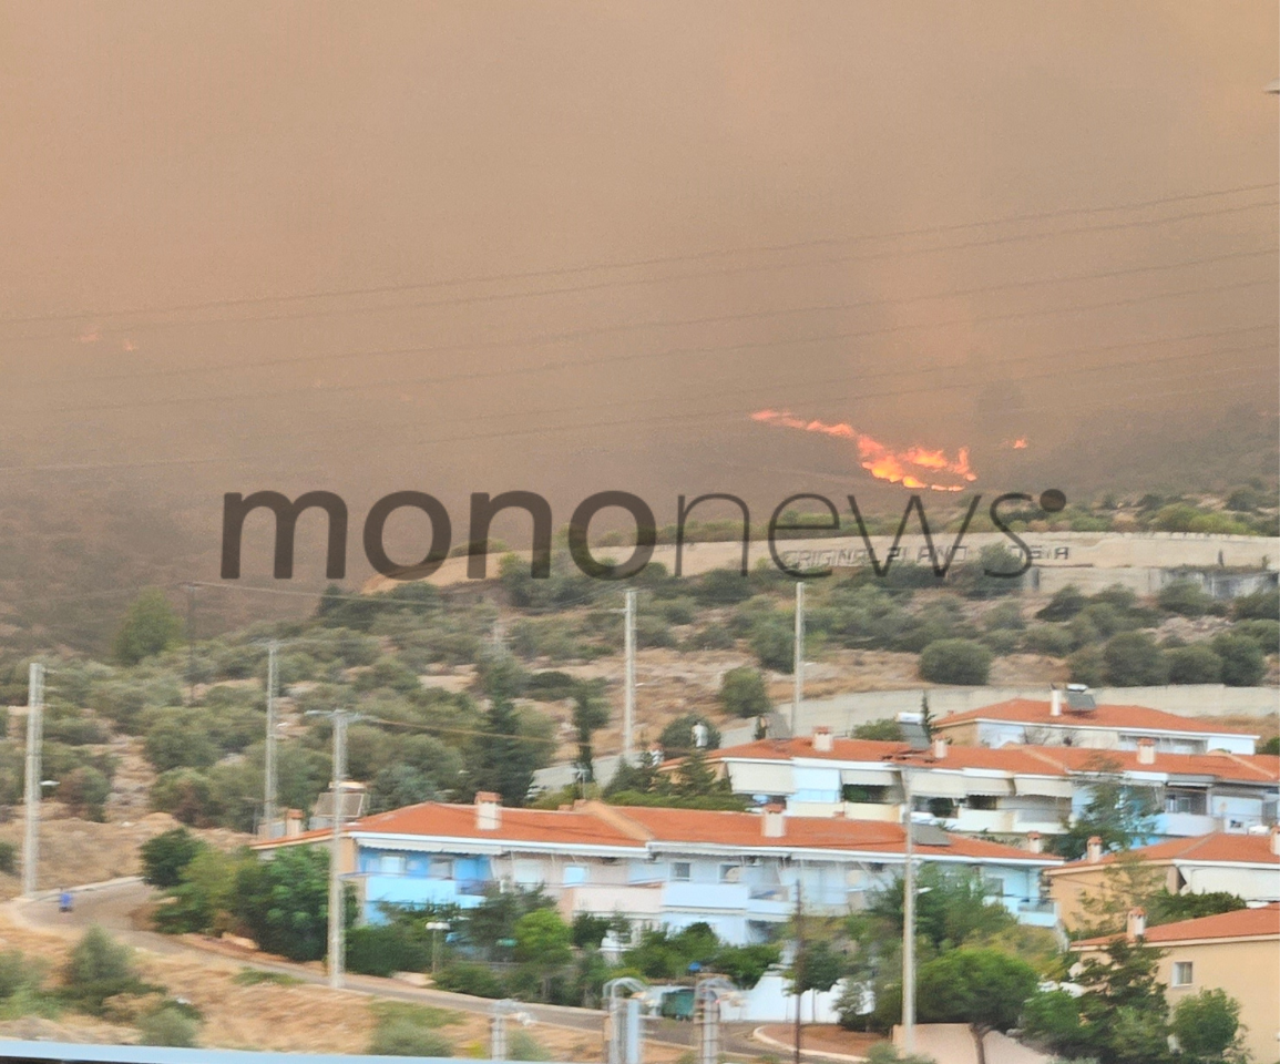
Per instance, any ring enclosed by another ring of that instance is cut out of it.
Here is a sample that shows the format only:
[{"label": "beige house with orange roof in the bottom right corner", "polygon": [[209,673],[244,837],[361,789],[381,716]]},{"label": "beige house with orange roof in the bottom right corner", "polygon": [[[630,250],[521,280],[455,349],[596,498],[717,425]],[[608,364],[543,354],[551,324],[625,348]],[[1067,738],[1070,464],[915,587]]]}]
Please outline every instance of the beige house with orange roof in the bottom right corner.
[{"label": "beige house with orange roof in the bottom right corner", "polygon": [[[1130,937],[1164,951],[1160,981],[1170,1008],[1202,990],[1225,990],[1240,1003],[1244,1045],[1257,1064],[1280,1058],[1280,905],[1238,909],[1215,917],[1147,928],[1142,909],[1129,917]],[[1107,939],[1071,949],[1087,954]]]}]

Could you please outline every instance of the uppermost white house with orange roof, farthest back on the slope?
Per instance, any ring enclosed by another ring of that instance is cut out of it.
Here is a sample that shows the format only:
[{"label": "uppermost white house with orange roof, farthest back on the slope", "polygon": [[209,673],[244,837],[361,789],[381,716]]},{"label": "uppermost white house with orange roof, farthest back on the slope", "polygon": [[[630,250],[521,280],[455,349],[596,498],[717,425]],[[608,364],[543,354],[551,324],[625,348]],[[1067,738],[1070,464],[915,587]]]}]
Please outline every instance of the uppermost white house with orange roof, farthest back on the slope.
[{"label": "uppermost white house with orange roof, farthest back on the slope", "polygon": [[965,713],[948,713],[933,731],[966,746],[1087,746],[1137,750],[1142,739],[1178,754],[1226,750],[1252,754],[1257,735],[1242,734],[1203,717],[1181,717],[1147,705],[1094,705],[1076,691],[1050,691],[1046,702],[1014,698]]}]

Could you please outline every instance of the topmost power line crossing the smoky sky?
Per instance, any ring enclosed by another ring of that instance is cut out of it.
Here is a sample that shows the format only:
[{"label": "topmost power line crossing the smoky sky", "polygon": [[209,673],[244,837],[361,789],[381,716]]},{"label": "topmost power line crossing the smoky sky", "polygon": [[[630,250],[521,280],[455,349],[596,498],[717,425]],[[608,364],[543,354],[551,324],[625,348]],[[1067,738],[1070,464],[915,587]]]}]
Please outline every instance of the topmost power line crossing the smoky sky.
[{"label": "topmost power line crossing the smoky sky", "polygon": [[[1276,184],[1277,184],[1276,182],[1262,182],[1258,184],[1244,184],[1244,186],[1236,186],[1234,188],[1213,189],[1208,192],[1189,192],[1176,196],[1164,196],[1152,200],[1140,200],[1135,202],[1117,204],[1111,206],[1062,207],[1060,210],[1052,210],[1052,211],[1011,215],[1007,218],[987,219],[982,222],[961,222],[946,225],[927,225],[913,229],[891,230],[887,233],[878,233],[878,234],[814,238],[806,241],[792,241],[787,243],[756,245],[754,247],[727,248],[719,251],[701,251],[686,255],[654,256],[648,259],[585,262],[571,266],[543,268],[538,270],[521,270],[521,271],[511,271],[502,274],[474,275],[466,278],[448,278],[448,279],[438,279],[428,282],[366,286],[360,288],[312,289],[310,292],[297,292],[297,293],[275,294],[275,296],[246,296],[246,297],[233,297],[221,300],[206,300],[206,301],[188,302],[188,303],[174,303],[168,306],[132,307],[125,310],[81,309],[76,311],[56,311],[56,312],[37,314],[37,315],[5,316],[0,318],[0,325],[35,324],[38,321],[67,321],[67,320],[78,320],[84,318],[128,318],[128,316],[141,316],[152,314],[180,314],[180,312],[195,312],[202,310],[219,310],[223,307],[232,307],[232,306],[259,306],[270,302],[296,302],[305,300],[337,298],[337,297],[349,297],[349,296],[393,294],[398,292],[457,287],[463,284],[493,284],[493,283],[506,283],[512,280],[529,280],[540,277],[590,273],[595,270],[607,270],[607,269],[635,269],[641,266],[657,266],[657,265],[668,265],[668,264],[678,264],[687,261],[703,261],[707,259],[727,257],[733,255],[776,254],[783,251],[806,250],[810,247],[829,247],[829,246],[841,246],[847,243],[861,243],[861,242],[881,241],[881,239],[900,239],[904,237],[928,236],[931,233],[961,232],[964,229],[984,228],[987,225],[1006,225],[1006,224],[1018,224],[1025,222],[1043,222],[1053,218],[1065,218],[1076,214],[1107,214],[1107,213],[1142,210],[1146,207],[1165,206],[1169,204],[1189,202],[1192,200],[1231,196],[1242,192],[1261,192],[1265,189],[1275,188]],[[1199,216],[1199,215],[1188,215],[1188,216]],[[1158,220],[1160,219],[1157,219],[1157,222]]]}]

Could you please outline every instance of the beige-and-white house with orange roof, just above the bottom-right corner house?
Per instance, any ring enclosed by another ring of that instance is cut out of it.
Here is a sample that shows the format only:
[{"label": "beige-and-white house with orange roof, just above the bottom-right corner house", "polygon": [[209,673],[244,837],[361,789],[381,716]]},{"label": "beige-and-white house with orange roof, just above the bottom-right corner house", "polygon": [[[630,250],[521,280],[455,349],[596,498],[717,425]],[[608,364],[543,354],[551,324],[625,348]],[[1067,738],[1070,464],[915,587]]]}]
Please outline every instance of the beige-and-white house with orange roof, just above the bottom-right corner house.
[{"label": "beige-and-white house with orange roof, just above the bottom-right corner house", "polygon": [[1130,860],[1156,869],[1152,878],[1170,894],[1226,891],[1252,905],[1280,901],[1280,827],[1266,835],[1215,832],[1125,854],[1103,854],[1101,846],[1091,846],[1084,859],[1047,869],[1050,895],[1062,922],[1069,928],[1079,926],[1083,900],[1103,894],[1121,862]]}]

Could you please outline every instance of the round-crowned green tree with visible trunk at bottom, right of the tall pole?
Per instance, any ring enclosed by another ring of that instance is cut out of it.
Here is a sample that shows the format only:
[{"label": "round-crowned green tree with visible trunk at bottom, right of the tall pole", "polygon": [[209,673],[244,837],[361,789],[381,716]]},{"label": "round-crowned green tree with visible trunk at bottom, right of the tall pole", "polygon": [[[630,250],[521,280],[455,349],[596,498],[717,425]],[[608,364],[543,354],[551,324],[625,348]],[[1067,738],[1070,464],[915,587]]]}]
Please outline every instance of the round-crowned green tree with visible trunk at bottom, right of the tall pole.
[{"label": "round-crowned green tree with visible trunk at bottom, right of the tall pole", "polygon": [[1018,1023],[1036,983],[1034,968],[1000,950],[951,950],[920,968],[919,1017],[927,1023],[968,1023],[978,1064],[986,1064],[987,1035]]}]

